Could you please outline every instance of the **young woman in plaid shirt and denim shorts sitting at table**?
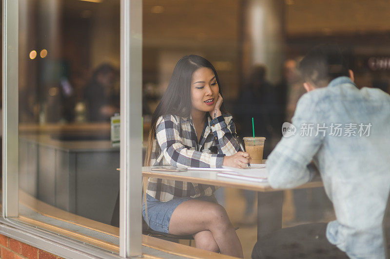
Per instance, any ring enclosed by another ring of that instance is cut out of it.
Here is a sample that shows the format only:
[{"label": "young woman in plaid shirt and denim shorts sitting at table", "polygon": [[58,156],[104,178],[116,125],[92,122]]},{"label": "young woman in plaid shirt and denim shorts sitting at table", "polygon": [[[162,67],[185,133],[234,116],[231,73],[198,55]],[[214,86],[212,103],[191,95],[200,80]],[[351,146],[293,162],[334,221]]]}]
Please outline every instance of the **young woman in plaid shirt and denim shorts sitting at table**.
[{"label": "young woman in plaid shirt and denim shorts sitting at table", "polygon": [[[232,116],[222,101],[213,65],[201,56],[182,57],[153,114],[145,165],[246,167],[250,156],[239,151]],[[142,215],[153,230],[192,234],[198,248],[242,258],[241,243],[216,203],[215,189],[149,178]]]}]

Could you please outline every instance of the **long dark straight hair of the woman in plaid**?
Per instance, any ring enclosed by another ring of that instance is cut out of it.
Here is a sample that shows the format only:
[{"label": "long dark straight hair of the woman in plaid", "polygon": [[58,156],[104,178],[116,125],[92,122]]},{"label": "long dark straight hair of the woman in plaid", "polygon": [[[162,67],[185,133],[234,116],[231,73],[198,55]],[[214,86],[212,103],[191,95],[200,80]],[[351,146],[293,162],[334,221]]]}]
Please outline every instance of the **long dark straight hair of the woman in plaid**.
[{"label": "long dark straight hair of the woman in plaid", "polygon": [[[197,55],[183,56],[177,61],[168,88],[164,92],[160,103],[152,116],[152,122],[149,130],[148,150],[145,157],[145,166],[150,166],[153,142],[156,139],[156,123],[160,116],[173,114],[179,117],[187,118],[191,115],[191,80],[192,74],[199,68],[210,68],[215,74],[215,79],[219,87],[219,93],[222,96],[221,85],[214,66],[204,57]],[[220,111],[227,113],[223,103]]]}]

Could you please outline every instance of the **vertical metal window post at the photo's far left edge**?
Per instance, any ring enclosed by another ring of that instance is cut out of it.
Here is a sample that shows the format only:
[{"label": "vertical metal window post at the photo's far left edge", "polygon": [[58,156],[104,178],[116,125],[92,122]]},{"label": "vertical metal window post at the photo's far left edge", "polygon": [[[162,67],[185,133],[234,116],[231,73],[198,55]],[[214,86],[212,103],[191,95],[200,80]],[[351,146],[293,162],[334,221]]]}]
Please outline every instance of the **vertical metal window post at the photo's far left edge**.
[{"label": "vertical metal window post at the photo's far left edge", "polygon": [[2,215],[19,214],[19,1],[2,0]]}]

